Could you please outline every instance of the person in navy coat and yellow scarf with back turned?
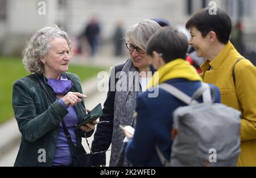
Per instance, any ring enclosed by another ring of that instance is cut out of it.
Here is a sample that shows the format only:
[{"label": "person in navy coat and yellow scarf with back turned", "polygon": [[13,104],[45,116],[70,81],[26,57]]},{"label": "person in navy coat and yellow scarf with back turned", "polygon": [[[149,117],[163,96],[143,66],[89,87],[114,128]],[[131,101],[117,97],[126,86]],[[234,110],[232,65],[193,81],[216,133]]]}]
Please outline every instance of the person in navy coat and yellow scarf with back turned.
[{"label": "person in navy coat and yellow scarf with back turned", "polygon": [[[185,61],[187,49],[187,37],[177,29],[164,27],[155,33],[148,40],[146,54],[158,70],[148,83],[148,87],[156,87],[162,83],[171,84],[186,95],[192,96],[201,87],[201,78],[195,68]],[[215,102],[220,103],[218,88],[212,84],[210,86],[216,91]],[[176,108],[187,105],[162,88],[159,88],[156,97],[150,97],[151,93],[148,88],[137,97],[134,135],[124,130],[126,137],[129,138],[126,156],[134,166],[163,166],[155,145],[164,157],[170,160],[172,113]],[[202,97],[198,101],[203,101]]]}]

